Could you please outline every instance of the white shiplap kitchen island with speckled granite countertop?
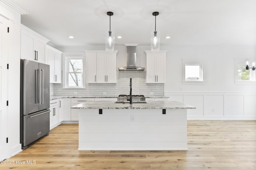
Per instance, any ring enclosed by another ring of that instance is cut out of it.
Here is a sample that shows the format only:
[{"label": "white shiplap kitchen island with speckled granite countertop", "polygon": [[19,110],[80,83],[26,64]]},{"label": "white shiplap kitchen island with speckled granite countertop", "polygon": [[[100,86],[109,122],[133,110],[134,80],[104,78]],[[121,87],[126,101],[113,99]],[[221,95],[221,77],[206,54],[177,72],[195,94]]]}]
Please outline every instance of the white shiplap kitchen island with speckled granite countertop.
[{"label": "white shiplap kitchen island with speckled granite countertop", "polygon": [[78,104],[78,150],[187,150],[187,109],[195,108],[176,101]]}]

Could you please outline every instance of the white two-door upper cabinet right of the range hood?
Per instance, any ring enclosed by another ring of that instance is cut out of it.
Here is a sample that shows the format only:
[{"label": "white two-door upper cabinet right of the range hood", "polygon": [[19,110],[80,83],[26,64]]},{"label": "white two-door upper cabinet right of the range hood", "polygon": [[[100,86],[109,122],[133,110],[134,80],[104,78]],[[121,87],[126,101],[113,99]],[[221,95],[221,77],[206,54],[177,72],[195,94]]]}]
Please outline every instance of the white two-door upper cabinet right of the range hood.
[{"label": "white two-door upper cabinet right of the range hood", "polygon": [[166,52],[146,53],[146,83],[165,83],[166,82]]}]

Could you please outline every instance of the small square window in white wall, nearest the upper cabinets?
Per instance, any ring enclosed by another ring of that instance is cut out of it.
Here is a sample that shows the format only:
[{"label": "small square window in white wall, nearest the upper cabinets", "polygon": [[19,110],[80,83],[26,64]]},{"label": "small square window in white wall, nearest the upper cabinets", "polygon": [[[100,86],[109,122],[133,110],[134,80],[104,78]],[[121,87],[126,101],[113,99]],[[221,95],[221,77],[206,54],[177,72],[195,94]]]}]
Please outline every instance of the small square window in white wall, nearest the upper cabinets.
[{"label": "small square window in white wall, nearest the upper cabinets", "polygon": [[185,64],[185,81],[203,81],[202,64]]}]

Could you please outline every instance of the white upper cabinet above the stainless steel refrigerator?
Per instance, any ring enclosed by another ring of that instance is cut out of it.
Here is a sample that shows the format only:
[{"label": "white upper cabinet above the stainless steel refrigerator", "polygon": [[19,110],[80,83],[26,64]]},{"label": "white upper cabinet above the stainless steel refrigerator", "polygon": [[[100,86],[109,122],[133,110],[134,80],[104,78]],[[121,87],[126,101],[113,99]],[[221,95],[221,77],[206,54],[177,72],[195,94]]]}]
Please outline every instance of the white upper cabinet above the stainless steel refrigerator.
[{"label": "white upper cabinet above the stainless steel refrigerator", "polygon": [[46,63],[45,47],[49,39],[21,24],[20,58]]}]

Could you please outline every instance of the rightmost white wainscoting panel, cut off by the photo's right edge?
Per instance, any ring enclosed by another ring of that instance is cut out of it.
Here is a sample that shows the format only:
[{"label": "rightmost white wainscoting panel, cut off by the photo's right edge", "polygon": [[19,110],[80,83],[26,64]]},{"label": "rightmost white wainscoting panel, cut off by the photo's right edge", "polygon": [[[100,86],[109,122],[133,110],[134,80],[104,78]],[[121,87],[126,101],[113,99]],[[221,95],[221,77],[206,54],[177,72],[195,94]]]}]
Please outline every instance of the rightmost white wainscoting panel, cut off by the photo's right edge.
[{"label": "rightmost white wainscoting panel, cut off by the photo's right edge", "polygon": [[244,115],[256,116],[256,96],[244,96]]}]

